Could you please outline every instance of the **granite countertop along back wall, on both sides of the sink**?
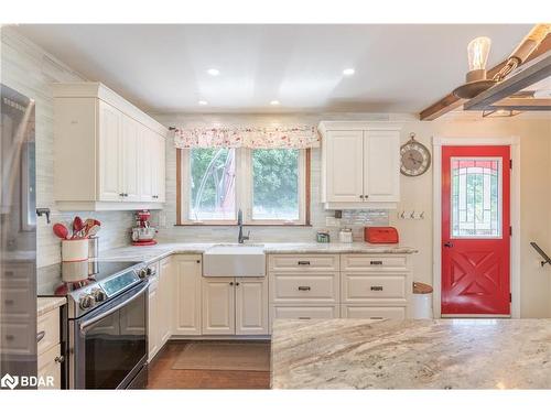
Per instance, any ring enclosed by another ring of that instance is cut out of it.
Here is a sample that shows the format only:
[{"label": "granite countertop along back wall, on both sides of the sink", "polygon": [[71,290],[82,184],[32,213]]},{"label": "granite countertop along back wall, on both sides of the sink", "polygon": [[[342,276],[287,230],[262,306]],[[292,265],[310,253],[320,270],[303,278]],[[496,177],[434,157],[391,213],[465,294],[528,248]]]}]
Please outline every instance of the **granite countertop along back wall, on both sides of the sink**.
[{"label": "granite countertop along back wall, on both sides of the sink", "polygon": [[[101,251],[101,260],[121,261],[147,261],[152,262],[173,253],[197,253],[205,252],[216,244],[230,244],[228,242],[216,243],[187,243],[187,242],[160,242],[156,246],[143,247],[121,247],[107,251]],[[320,242],[251,242],[250,244],[261,244],[268,254],[276,253],[400,253],[409,254],[418,252],[417,249],[400,244],[370,244],[367,242],[353,243],[320,243]],[[247,246],[247,244],[245,244]]]}]

